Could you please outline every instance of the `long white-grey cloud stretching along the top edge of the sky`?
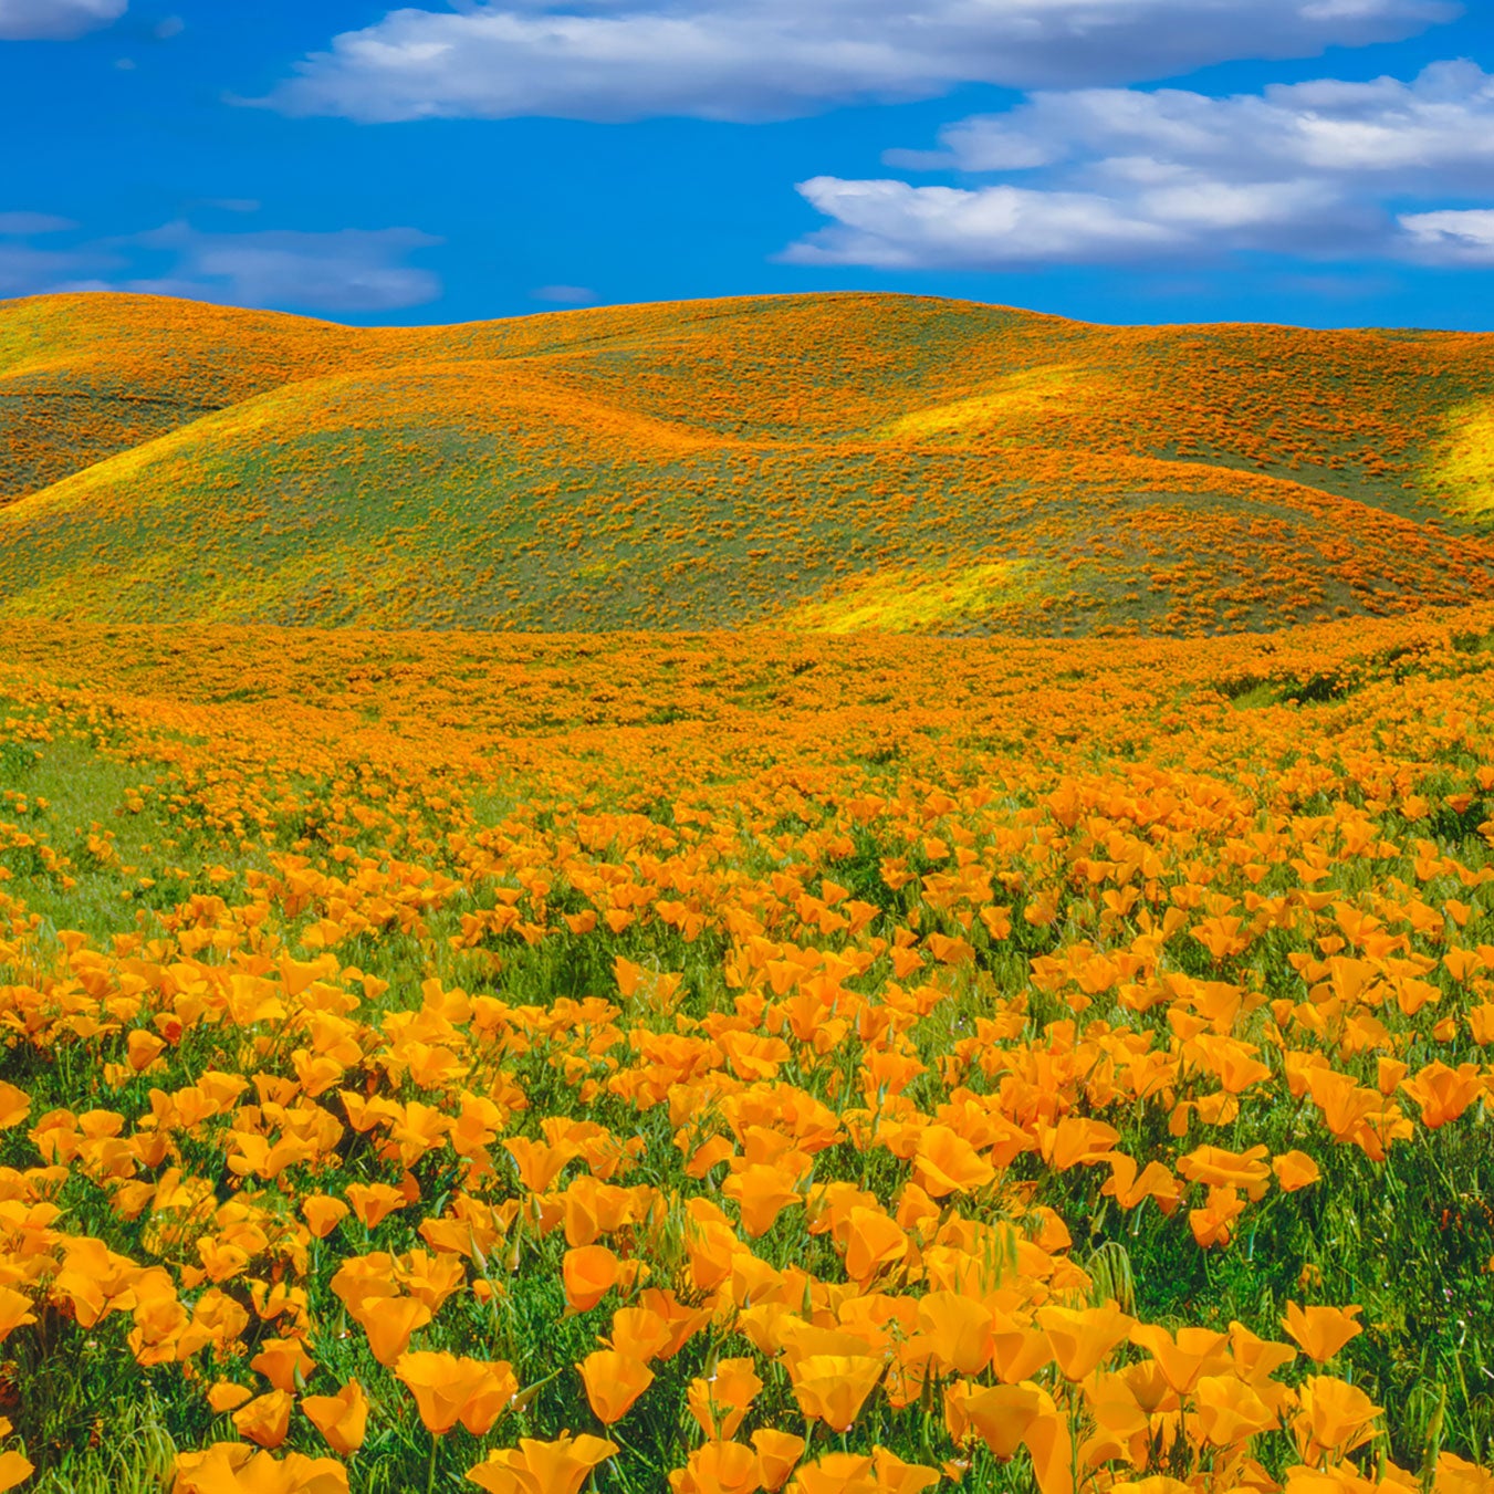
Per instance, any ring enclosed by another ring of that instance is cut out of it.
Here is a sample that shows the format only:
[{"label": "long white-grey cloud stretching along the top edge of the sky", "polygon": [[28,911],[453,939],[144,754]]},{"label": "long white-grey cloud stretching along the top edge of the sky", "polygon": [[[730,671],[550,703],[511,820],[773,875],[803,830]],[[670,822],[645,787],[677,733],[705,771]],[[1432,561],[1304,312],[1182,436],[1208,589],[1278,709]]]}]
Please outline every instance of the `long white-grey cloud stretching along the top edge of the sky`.
[{"label": "long white-grey cloud stretching along the top edge of the sky", "polygon": [[257,102],[362,121],[772,120],[964,82],[1134,82],[1307,57],[1458,12],[1445,0],[465,0],[345,31]]}]

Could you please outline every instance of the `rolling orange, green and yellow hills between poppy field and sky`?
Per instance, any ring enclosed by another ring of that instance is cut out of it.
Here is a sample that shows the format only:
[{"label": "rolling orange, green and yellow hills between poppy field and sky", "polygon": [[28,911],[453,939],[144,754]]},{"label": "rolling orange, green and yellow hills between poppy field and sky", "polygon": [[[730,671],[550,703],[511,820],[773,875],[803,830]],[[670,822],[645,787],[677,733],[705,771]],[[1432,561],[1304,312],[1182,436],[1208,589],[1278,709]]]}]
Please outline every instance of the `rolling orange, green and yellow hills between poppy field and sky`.
[{"label": "rolling orange, green and yellow hills between poppy field and sky", "polygon": [[0,302],[0,617],[1198,632],[1494,596],[1494,335]]}]

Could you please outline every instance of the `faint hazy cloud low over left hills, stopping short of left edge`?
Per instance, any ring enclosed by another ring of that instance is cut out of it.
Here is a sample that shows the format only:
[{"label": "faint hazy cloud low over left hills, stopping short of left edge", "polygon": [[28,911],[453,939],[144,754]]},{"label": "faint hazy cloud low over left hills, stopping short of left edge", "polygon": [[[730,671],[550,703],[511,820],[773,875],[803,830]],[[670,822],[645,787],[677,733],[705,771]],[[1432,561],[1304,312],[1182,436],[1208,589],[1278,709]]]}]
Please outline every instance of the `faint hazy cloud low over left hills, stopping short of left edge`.
[{"label": "faint hazy cloud low over left hills, stopping short of left edge", "polygon": [[170,251],[175,264],[121,290],[308,311],[393,311],[441,294],[436,275],[403,263],[412,249],[441,242],[418,229],[202,233],[169,223],[127,242]]}]

